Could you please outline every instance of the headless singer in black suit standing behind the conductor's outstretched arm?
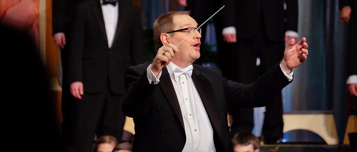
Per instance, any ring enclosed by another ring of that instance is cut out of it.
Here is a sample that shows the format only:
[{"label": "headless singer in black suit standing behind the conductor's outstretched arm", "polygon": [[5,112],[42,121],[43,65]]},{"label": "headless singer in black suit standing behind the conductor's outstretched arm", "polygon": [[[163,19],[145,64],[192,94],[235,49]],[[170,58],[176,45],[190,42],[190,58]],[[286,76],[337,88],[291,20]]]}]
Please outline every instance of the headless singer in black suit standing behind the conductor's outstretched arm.
[{"label": "headless singer in black suit standing behind the conductor's outstretched arm", "polygon": [[[230,80],[254,82],[281,60],[284,43],[297,40],[297,0],[224,0],[223,5],[228,6],[222,13],[222,37],[226,43],[218,45],[218,54],[225,63],[223,66],[228,67],[222,70],[228,71],[226,76]],[[231,56],[228,60],[227,54]],[[260,58],[258,72],[257,57]],[[228,112],[233,118],[232,137],[237,132],[252,131],[253,108],[233,107]],[[265,143],[281,142],[282,114],[279,93],[266,106],[262,131]]]}]

